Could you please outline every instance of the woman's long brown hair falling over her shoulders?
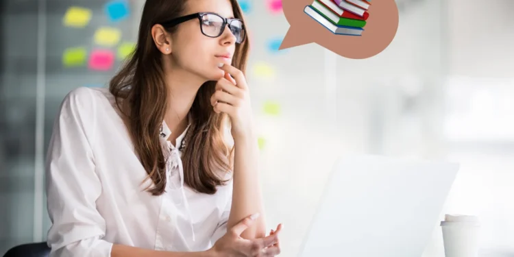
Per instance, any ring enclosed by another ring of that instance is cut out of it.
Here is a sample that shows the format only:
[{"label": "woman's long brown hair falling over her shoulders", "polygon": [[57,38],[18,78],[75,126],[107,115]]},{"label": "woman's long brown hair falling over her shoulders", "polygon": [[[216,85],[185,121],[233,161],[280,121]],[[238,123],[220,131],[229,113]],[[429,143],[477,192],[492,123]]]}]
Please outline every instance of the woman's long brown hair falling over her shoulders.
[{"label": "woman's long brown hair falling over her shoulders", "polygon": [[[161,195],[166,186],[166,160],[159,140],[159,131],[167,108],[167,84],[162,69],[162,54],[151,36],[157,23],[184,15],[188,0],[147,0],[141,17],[136,49],[109,84],[123,114],[134,150],[151,179],[152,195]],[[230,0],[235,18],[243,20],[237,0]],[[175,32],[175,29],[168,29]],[[245,72],[249,50],[248,38],[236,45],[232,65]],[[215,81],[201,85],[193,101],[191,125],[184,137],[182,153],[184,184],[199,193],[214,194],[216,186],[225,184],[219,176],[233,169],[234,147],[229,149],[223,139],[228,125],[227,114],[217,114],[210,105]],[[125,102],[124,102],[125,101]],[[124,106],[124,107],[121,107]],[[145,180],[146,181],[146,180]],[[143,181],[144,182],[144,181]]]}]

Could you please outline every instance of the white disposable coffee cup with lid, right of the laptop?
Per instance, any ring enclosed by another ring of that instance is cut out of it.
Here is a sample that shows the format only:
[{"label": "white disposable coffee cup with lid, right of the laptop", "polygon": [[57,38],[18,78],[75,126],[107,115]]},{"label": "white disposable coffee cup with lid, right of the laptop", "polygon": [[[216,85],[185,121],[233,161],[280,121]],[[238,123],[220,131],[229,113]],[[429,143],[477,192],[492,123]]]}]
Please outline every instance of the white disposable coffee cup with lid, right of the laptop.
[{"label": "white disposable coffee cup with lid, right of the laptop", "polygon": [[445,215],[441,221],[445,257],[478,257],[480,222],[471,215]]}]

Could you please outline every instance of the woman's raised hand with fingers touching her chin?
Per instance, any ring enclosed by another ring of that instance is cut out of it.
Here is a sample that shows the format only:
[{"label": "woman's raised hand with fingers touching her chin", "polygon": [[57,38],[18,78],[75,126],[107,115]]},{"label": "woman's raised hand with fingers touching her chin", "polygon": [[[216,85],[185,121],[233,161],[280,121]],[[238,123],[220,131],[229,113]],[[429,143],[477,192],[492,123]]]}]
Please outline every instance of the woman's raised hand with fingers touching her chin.
[{"label": "woman's raised hand with fingers touching her chin", "polygon": [[[232,137],[253,135],[252,107],[250,104],[248,85],[242,71],[224,64],[225,77],[218,80],[216,92],[210,97],[210,104],[217,113],[225,112],[232,121]],[[230,77],[232,75],[232,77]]]}]

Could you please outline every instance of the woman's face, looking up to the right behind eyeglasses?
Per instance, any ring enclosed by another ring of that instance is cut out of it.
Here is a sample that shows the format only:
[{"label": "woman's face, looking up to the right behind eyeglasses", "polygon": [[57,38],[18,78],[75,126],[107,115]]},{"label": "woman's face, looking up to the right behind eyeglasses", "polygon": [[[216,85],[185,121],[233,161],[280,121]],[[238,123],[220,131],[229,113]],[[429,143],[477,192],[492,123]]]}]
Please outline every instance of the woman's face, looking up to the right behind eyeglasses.
[{"label": "woman's face, looking up to the right behind eyeglasses", "polygon": [[[196,12],[215,12],[223,18],[234,18],[229,0],[189,0],[183,15]],[[224,72],[218,64],[232,64],[236,37],[225,26],[223,34],[210,38],[201,33],[199,19],[178,25],[171,35],[171,58],[181,69],[206,80],[218,80]]]}]

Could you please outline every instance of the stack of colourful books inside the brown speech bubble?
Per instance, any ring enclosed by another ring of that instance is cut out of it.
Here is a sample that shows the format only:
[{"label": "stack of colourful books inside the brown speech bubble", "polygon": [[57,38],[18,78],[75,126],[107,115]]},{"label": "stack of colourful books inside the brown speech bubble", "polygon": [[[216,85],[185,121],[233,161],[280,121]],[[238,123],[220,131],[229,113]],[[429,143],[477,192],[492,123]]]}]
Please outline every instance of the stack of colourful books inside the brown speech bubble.
[{"label": "stack of colourful books inside the brown speech bubble", "polygon": [[334,34],[361,36],[369,6],[367,0],[314,0],[304,12]]}]

